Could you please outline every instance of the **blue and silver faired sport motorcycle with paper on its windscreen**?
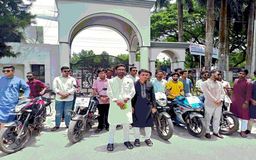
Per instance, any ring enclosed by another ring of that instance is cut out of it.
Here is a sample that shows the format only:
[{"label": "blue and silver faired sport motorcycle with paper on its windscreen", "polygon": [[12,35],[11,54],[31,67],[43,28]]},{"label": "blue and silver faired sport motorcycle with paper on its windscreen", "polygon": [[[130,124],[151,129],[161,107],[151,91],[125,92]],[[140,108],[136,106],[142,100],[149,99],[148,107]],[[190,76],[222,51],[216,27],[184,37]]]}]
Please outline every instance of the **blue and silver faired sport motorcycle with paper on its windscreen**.
[{"label": "blue and silver faired sport motorcycle with paper on its windscreen", "polygon": [[203,109],[203,104],[192,93],[184,95],[181,92],[180,95],[181,97],[176,97],[172,101],[174,103],[170,110],[172,121],[185,125],[194,137],[201,137],[206,133],[203,115],[199,113]]}]

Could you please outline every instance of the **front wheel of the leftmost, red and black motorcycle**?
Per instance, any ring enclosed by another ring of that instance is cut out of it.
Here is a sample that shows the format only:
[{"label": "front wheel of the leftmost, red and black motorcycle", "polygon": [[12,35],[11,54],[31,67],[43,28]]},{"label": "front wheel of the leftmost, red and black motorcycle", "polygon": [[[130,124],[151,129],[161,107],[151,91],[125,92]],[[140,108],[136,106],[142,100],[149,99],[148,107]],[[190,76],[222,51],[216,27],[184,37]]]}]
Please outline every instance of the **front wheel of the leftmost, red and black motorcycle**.
[{"label": "front wheel of the leftmost, red and black motorcycle", "polygon": [[0,130],[0,150],[5,153],[14,153],[21,150],[29,138],[29,129],[23,128],[21,137],[17,139],[17,126],[4,127]]}]

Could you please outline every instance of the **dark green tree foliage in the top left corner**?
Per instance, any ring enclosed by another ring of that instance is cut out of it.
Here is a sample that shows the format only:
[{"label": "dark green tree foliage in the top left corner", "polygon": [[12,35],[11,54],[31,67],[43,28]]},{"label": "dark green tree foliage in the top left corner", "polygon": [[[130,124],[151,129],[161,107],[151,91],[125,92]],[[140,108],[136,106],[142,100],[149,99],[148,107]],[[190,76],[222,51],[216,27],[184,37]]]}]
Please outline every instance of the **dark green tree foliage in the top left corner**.
[{"label": "dark green tree foliage in the top left corner", "polygon": [[30,8],[36,0],[0,1],[0,59],[3,57],[18,57],[21,53],[14,53],[7,42],[20,42],[24,39],[22,29],[31,23],[36,23],[36,15],[31,14]]}]

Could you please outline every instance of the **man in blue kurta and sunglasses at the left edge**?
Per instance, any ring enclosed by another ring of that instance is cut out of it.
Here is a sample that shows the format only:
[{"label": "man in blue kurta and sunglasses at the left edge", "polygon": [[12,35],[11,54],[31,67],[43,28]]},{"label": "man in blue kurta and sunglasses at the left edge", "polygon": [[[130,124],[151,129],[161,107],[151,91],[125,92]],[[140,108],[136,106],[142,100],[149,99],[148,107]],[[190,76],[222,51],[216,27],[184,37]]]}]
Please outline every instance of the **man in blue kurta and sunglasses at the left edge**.
[{"label": "man in blue kurta and sunglasses at the left edge", "polygon": [[8,113],[15,112],[11,110],[15,109],[15,106],[18,103],[20,88],[25,92],[21,98],[27,98],[30,94],[30,89],[26,82],[23,79],[14,76],[14,66],[4,66],[2,73],[4,73],[4,76],[0,76],[1,129],[4,128],[6,123],[14,121],[15,115],[9,115]]}]

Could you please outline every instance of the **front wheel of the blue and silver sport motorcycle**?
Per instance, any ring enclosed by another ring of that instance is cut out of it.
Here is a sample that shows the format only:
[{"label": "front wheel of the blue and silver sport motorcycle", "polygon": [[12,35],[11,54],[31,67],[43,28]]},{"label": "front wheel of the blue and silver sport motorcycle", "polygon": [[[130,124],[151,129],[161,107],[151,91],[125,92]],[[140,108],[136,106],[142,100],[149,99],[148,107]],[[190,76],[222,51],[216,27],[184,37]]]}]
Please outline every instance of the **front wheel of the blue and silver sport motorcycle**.
[{"label": "front wheel of the blue and silver sport motorcycle", "polygon": [[202,137],[206,133],[206,124],[202,117],[193,117],[190,119],[187,116],[185,122],[188,132],[194,137]]}]

